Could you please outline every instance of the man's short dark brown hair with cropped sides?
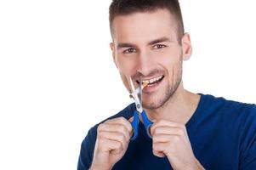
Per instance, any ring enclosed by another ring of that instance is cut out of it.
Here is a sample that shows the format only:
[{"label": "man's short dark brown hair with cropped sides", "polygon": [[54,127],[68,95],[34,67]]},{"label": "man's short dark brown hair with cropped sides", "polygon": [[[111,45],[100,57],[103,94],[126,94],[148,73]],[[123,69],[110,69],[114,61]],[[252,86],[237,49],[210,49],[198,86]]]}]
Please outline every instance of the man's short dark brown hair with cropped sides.
[{"label": "man's short dark brown hair with cropped sides", "polygon": [[112,0],[109,8],[109,20],[112,33],[112,22],[117,15],[128,15],[137,12],[154,12],[166,8],[174,15],[177,22],[178,39],[184,35],[184,24],[179,6],[179,0]]}]

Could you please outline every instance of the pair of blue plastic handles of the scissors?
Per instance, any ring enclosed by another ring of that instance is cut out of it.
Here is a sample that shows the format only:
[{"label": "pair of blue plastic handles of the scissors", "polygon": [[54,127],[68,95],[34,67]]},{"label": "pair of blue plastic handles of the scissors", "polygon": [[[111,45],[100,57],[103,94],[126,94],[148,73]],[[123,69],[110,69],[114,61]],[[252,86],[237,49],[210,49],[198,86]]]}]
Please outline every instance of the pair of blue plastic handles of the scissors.
[{"label": "pair of blue plastic handles of the scissors", "polygon": [[[150,133],[150,127],[153,124],[153,122],[151,122],[148,119],[148,117],[145,114],[145,111],[142,111],[141,116],[142,116],[142,121],[144,123],[145,131],[146,131],[148,137],[152,138],[151,133]],[[134,128],[134,134],[133,134],[133,137],[131,138],[131,140],[134,140],[138,136],[138,127],[139,127],[139,113],[138,113],[138,111],[134,111],[134,121],[131,122],[131,124],[132,124],[132,127]]]}]

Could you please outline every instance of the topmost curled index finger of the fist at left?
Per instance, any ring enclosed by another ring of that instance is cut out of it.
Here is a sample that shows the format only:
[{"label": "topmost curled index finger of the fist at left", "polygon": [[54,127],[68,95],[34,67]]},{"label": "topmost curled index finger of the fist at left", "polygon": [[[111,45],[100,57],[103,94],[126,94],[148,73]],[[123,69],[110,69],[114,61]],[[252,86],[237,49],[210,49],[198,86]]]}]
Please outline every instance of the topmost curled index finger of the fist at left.
[{"label": "topmost curled index finger of the fist at left", "polygon": [[100,132],[122,133],[127,141],[130,139],[130,133],[128,132],[127,127],[122,124],[102,123],[98,127],[98,133]]}]

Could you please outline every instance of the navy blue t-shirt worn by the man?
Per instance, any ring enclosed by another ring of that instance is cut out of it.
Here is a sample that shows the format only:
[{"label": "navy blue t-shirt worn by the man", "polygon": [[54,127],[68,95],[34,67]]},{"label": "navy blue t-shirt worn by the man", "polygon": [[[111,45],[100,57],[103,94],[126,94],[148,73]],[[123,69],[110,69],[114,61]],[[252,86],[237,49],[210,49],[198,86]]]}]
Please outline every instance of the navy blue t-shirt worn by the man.
[{"label": "navy blue t-shirt worn by the man", "polygon": [[[133,116],[135,105],[128,105],[108,119]],[[92,127],[82,141],[78,170],[91,166],[97,127]],[[191,146],[206,169],[256,169],[256,105],[201,94],[195,113],[185,125]],[[138,138],[112,169],[172,169],[168,158],[152,153],[152,139],[139,123]]]}]

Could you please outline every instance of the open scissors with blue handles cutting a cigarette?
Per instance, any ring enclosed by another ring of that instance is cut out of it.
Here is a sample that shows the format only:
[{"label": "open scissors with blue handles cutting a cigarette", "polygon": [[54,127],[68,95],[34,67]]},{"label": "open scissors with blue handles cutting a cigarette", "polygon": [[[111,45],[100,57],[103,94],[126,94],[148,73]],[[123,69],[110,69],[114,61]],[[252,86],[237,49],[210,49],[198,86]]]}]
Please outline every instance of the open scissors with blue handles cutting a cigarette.
[{"label": "open scissors with blue handles cutting a cigarette", "polygon": [[145,111],[143,111],[142,108],[142,89],[145,88],[146,85],[142,85],[142,81],[139,81],[139,87],[134,88],[134,83],[130,77],[130,84],[132,86],[132,93],[130,94],[130,97],[134,99],[135,105],[136,105],[136,110],[134,111],[134,121],[131,122],[132,127],[134,129],[134,134],[131,138],[131,140],[134,140],[138,136],[138,127],[139,127],[139,116],[142,119],[142,122],[145,127],[145,131],[147,135],[152,138],[151,133],[150,133],[150,127],[153,124],[148,117],[145,114]]}]

